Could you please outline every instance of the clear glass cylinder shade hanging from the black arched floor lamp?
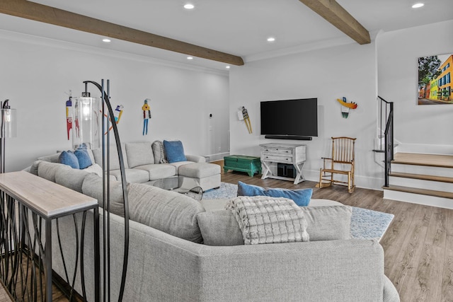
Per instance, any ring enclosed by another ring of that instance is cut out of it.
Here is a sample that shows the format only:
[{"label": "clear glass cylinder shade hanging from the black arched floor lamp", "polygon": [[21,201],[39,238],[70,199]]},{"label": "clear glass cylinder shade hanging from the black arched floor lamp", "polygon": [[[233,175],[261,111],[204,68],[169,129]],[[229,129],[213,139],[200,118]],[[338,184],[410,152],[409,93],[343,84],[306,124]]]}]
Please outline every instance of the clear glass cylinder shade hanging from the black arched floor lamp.
[{"label": "clear glass cylinder shade hanging from the black arched floor lamp", "polygon": [[74,149],[86,146],[88,149],[101,148],[101,100],[91,97],[76,97],[74,101],[75,134],[72,136]]}]

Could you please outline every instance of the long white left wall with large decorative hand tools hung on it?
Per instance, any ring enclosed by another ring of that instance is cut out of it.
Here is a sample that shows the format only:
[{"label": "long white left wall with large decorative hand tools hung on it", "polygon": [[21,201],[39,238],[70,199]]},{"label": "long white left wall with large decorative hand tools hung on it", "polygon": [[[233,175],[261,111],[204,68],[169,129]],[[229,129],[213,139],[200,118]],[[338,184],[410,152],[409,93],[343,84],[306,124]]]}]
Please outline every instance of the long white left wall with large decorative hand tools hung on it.
[{"label": "long white left wall with large decorative hand tools hung on it", "polygon": [[[180,139],[186,153],[228,151],[227,74],[6,31],[0,31],[0,53],[0,98],[8,98],[18,115],[18,137],[6,141],[7,171],[71,148],[65,93],[81,95],[86,80],[110,79],[112,105],[125,107],[118,124],[122,142]],[[88,90],[100,95],[93,85]],[[145,98],[152,118],[143,137]]]}]

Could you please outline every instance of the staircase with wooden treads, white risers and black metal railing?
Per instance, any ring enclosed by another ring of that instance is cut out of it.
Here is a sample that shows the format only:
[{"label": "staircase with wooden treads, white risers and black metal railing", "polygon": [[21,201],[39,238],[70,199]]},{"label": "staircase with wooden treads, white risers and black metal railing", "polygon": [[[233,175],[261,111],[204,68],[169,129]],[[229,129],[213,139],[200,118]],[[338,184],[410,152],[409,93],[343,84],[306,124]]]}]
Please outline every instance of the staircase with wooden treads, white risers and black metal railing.
[{"label": "staircase with wooden treads, white risers and black metal railing", "polygon": [[384,199],[453,209],[453,156],[394,153],[394,104],[378,98],[378,130],[385,124],[385,142],[384,150],[374,152],[385,154]]}]

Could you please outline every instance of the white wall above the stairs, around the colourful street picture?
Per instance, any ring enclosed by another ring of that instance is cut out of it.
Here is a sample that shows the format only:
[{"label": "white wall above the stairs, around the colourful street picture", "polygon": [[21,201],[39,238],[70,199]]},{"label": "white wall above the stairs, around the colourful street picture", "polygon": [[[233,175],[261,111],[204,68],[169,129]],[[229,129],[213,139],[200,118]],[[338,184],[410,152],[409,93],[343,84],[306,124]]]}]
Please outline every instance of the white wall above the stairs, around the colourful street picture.
[{"label": "white wall above the stairs, around the colourful street picture", "polygon": [[417,105],[418,57],[453,54],[452,27],[453,20],[377,36],[379,95],[394,102],[395,139],[415,145],[404,151],[452,151],[445,146],[453,145],[453,105]]}]

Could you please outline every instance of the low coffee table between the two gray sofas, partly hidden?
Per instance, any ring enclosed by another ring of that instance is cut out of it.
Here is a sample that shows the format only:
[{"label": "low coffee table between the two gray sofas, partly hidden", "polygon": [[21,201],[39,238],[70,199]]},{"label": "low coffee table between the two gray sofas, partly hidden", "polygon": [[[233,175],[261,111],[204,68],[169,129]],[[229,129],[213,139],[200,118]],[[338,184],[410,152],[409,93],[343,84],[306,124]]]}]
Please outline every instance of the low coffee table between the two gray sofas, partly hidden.
[{"label": "low coffee table between the two gray sofas, partly hidden", "polygon": [[156,180],[156,182],[153,183],[153,186],[185,194],[198,201],[203,198],[203,190],[193,178],[186,178],[184,176],[161,178]]}]

